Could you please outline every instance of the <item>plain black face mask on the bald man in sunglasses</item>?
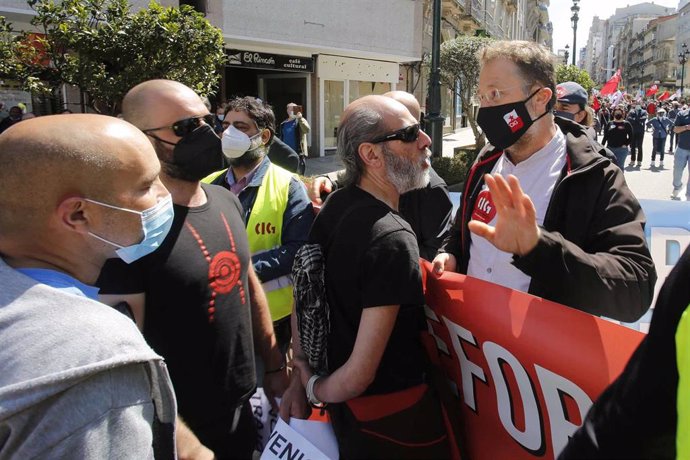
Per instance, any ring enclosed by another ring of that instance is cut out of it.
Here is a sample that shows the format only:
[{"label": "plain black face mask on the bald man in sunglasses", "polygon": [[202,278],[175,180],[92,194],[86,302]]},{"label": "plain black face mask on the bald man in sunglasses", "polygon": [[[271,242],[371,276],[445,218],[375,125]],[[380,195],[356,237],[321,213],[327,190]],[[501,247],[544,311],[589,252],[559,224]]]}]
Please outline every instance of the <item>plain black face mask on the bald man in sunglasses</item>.
[{"label": "plain black face mask on the bald man in sunglasses", "polygon": [[222,144],[209,125],[199,126],[174,145],[172,161],[163,163],[163,168],[175,179],[197,182],[223,169]]}]

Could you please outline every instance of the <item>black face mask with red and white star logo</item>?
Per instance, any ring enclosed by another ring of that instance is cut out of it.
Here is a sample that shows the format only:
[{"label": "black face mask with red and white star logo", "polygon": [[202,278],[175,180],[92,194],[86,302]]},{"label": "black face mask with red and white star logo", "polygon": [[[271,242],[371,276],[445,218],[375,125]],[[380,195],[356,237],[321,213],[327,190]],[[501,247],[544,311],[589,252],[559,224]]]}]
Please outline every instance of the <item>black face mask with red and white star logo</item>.
[{"label": "black face mask with red and white star logo", "polygon": [[495,107],[482,107],[477,115],[477,124],[482,128],[491,145],[504,150],[515,144],[535,121],[549,113],[549,110],[532,120],[526,103],[542,88],[529,95],[524,101],[511,102]]}]

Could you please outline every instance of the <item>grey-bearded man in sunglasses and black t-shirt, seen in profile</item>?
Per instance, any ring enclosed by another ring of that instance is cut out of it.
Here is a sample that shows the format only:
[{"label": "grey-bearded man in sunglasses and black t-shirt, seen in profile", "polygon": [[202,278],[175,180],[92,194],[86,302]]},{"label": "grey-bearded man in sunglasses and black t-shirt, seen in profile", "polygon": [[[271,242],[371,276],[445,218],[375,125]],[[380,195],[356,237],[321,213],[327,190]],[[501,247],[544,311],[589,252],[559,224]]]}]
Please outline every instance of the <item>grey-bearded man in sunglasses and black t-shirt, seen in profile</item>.
[{"label": "grey-bearded man in sunglasses and black t-shirt, seen in profile", "polygon": [[350,104],[338,129],[346,186],[310,233],[326,259],[330,375],[314,375],[294,340],[281,415],[301,415],[293,404],[305,389],[312,404],[328,403],[343,458],[448,455],[440,405],[426,385],[419,250],[398,213],[400,195],[429,181],[430,143],[410,112],[383,96]]}]

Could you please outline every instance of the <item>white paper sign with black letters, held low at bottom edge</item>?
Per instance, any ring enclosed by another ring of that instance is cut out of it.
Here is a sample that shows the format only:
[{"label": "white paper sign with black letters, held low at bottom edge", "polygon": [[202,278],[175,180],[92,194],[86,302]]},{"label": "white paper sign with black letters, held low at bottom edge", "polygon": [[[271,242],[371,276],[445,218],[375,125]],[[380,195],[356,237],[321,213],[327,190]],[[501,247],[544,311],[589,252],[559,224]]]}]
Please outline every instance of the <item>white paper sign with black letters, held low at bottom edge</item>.
[{"label": "white paper sign with black letters, held low at bottom edge", "polygon": [[[273,430],[273,433],[271,433],[271,436],[268,438],[266,447],[261,454],[261,460],[338,460],[338,446],[335,442],[335,436],[333,435],[333,430],[330,425],[323,422],[306,422],[308,424],[326,425],[327,429],[330,429],[330,435],[332,436],[331,441],[335,443],[335,446],[326,447],[326,449],[331,452],[335,449],[335,457],[326,455],[326,453],[319,450],[319,448],[309,442],[304,436],[297,432],[297,430],[291,428],[281,418],[278,418],[275,430]],[[304,424],[298,423],[298,425],[300,425],[301,429],[304,428]],[[321,433],[320,436],[324,433],[322,429],[323,427],[317,428],[317,432]],[[311,427],[308,431],[313,433]],[[326,434],[323,436],[324,437],[319,438],[319,441],[317,441],[319,444],[328,442],[329,435]]]}]

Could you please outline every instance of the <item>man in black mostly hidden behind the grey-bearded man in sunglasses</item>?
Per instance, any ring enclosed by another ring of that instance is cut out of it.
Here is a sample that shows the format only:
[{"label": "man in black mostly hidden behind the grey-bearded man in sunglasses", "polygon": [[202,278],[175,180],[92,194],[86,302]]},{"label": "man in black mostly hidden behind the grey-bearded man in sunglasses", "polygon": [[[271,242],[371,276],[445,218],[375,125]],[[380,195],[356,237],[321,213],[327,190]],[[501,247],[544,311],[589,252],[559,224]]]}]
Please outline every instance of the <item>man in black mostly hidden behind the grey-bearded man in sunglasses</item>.
[{"label": "man in black mostly hidden behind the grey-bearded man in sunglasses", "polygon": [[[384,96],[400,102],[417,121],[420,121],[421,108],[412,94],[405,91],[389,91]],[[395,133],[394,137],[403,142],[416,142],[419,132],[420,126],[415,124]],[[338,188],[338,177],[343,172],[315,177],[309,187],[311,200],[321,204],[322,195]],[[421,257],[432,260],[436,256],[450,228],[452,212],[453,203],[450,201],[448,186],[432,167],[429,167],[429,183],[426,187],[410,190],[400,196],[400,215],[412,227]]]}]

